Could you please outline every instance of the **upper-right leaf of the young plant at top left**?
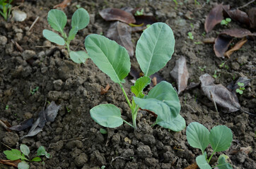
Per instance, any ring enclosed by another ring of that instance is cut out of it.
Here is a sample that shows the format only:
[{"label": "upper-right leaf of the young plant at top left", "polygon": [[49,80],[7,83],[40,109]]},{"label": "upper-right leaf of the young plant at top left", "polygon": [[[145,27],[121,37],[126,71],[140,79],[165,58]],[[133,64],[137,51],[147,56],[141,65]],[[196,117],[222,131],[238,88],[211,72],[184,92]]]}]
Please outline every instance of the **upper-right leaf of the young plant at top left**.
[{"label": "upper-right leaf of the young plant at top left", "polygon": [[81,30],[88,25],[89,20],[90,16],[88,12],[84,8],[78,8],[72,15],[71,25]]}]

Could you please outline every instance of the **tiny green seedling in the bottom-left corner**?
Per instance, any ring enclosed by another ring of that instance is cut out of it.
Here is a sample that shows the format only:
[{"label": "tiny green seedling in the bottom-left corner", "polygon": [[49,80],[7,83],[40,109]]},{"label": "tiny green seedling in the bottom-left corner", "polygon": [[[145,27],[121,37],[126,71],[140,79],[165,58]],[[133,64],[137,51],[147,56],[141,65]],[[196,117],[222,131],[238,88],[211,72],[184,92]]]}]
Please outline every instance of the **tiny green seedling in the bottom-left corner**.
[{"label": "tiny green seedling in the bottom-left corner", "polygon": [[38,162],[42,161],[42,159],[39,156],[45,156],[46,158],[50,158],[50,154],[45,151],[44,146],[40,146],[37,149],[37,156],[35,158],[32,158],[30,160],[29,154],[30,149],[25,144],[21,144],[20,146],[21,151],[18,149],[11,149],[4,151],[4,154],[6,155],[6,158],[11,161],[21,160],[21,163],[18,163],[18,169],[28,169],[29,165],[27,162]]}]

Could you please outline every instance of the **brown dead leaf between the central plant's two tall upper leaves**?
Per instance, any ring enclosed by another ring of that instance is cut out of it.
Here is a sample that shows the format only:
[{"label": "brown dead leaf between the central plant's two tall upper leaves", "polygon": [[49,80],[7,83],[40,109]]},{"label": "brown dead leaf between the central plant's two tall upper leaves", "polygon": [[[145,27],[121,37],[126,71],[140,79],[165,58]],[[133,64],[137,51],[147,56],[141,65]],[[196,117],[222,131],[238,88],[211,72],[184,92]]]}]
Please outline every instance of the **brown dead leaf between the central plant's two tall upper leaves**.
[{"label": "brown dead leaf between the central plant's two tall upper leaves", "polygon": [[129,56],[134,56],[134,45],[132,44],[132,27],[119,21],[112,23],[107,30],[106,37],[115,40],[117,44],[127,49]]}]

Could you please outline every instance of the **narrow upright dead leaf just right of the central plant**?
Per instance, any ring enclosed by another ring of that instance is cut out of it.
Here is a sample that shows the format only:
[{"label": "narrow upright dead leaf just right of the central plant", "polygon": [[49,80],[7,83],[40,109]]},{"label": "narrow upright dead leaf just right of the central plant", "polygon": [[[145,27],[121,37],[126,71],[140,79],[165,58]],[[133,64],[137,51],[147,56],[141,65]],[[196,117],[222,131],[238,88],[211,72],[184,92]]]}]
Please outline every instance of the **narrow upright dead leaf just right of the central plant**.
[{"label": "narrow upright dead leaf just right of the central plant", "polygon": [[187,71],[186,58],[184,56],[180,57],[176,63],[175,68],[170,72],[170,75],[176,80],[178,86],[178,94],[184,91],[187,87],[187,80],[189,78],[189,73]]}]

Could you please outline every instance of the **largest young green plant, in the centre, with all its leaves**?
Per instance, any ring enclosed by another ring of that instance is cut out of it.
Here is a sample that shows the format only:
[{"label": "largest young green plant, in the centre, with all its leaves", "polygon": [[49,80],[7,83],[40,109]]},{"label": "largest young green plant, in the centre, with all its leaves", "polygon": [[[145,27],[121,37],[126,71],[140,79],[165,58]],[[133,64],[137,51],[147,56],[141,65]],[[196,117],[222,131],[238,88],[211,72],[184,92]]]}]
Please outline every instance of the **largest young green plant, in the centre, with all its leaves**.
[{"label": "largest young green plant, in the centre, with all its leaves", "polygon": [[144,76],[136,80],[131,87],[135,96],[130,101],[122,85],[131,68],[127,50],[101,35],[88,35],[85,40],[86,51],[103,73],[120,84],[132,111],[132,124],[123,120],[120,109],[112,104],[95,106],[90,111],[91,118],[105,127],[118,127],[124,122],[136,130],[137,112],[142,108],[158,115],[153,125],[158,124],[175,132],[182,130],[185,127],[185,120],[180,115],[180,101],[172,84],[163,81],[153,87],[147,96],[143,93],[143,89],[151,82],[150,76],[170,61],[174,45],[173,31],[165,23],[154,23],[141,34],[136,44],[136,59]]}]

